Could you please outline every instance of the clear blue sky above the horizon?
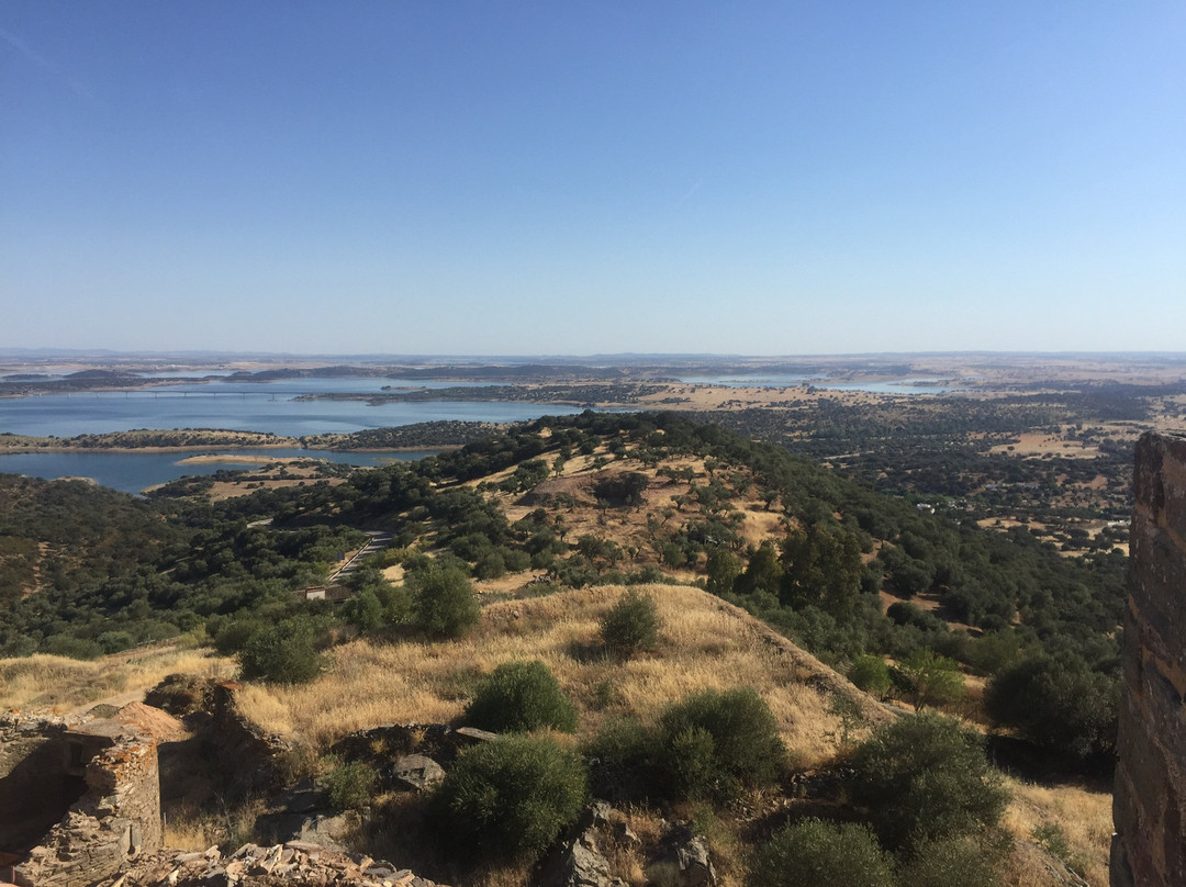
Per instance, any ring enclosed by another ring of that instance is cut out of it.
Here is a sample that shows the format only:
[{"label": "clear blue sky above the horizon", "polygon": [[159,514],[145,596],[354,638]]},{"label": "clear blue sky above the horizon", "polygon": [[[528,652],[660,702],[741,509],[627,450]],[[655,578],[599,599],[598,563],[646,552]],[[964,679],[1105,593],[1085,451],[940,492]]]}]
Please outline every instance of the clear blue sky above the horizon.
[{"label": "clear blue sky above the horizon", "polygon": [[1186,350],[1186,5],[0,0],[0,346]]}]

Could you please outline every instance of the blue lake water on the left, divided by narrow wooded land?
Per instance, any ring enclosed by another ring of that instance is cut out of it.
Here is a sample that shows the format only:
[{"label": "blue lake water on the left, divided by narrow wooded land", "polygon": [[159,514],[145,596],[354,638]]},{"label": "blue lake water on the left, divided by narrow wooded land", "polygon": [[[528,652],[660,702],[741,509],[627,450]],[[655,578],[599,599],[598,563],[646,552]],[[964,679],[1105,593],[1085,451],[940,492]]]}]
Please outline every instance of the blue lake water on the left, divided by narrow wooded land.
[{"label": "blue lake water on the left, divided by narrow wooded land", "polygon": [[[570,415],[579,407],[506,401],[422,401],[383,403],[369,407],[364,401],[298,401],[304,394],[380,393],[384,385],[446,388],[485,383],[420,382],[391,378],[300,378],[267,383],[210,382],[153,388],[144,391],[98,391],[72,395],[42,395],[0,400],[0,432],[33,436],[70,438],[76,434],[103,434],[133,428],[170,430],[174,428],[223,428],[243,432],[272,432],[299,438],[307,434],[350,433],[460,420],[476,422],[519,422],[543,415]],[[2,390],[2,388],[0,388]],[[209,452],[209,451],[195,451]],[[352,465],[377,465],[374,454],[327,453],[323,451],[236,451],[263,455],[307,455]],[[46,479],[94,478],[98,483],[139,492],[184,474],[212,474],[232,464],[180,465],[193,453],[17,453],[0,455],[0,472],[30,474]],[[400,459],[426,455],[393,454]]]}]

